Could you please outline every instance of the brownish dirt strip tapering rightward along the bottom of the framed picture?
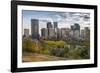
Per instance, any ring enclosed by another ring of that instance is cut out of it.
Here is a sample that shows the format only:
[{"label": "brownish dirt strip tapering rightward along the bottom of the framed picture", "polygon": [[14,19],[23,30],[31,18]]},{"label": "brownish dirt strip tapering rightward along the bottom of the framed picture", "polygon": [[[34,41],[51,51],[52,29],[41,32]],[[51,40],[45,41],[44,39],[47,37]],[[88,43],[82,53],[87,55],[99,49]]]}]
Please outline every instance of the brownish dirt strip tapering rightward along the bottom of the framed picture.
[{"label": "brownish dirt strip tapering rightward along the bottom of the framed picture", "polygon": [[56,61],[56,60],[66,60],[66,58],[43,55],[37,53],[23,53],[23,62],[39,62],[39,61]]}]

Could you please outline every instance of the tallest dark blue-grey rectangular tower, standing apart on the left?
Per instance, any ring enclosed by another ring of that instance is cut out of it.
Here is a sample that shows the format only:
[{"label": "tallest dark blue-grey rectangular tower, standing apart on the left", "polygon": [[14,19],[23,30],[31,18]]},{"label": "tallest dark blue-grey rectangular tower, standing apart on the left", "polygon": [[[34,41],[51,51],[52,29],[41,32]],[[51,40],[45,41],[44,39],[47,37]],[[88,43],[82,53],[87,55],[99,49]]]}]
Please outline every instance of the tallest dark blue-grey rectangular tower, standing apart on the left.
[{"label": "tallest dark blue-grey rectangular tower, standing apart on the left", "polygon": [[39,20],[31,19],[31,34],[32,39],[39,39]]}]

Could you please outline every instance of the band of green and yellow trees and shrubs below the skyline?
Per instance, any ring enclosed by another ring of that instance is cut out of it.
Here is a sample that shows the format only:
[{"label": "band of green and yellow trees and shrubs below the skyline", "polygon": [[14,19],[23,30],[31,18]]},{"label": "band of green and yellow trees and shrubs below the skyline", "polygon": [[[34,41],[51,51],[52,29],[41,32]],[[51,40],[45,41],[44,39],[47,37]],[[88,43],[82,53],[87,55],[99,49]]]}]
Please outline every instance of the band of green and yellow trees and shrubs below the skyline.
[{"label": "band of green and yellow trees and shrubs below the skyline", "polygon": [[38,53],[66,59],[89,59],[90,41],[89,40],[38,40],[23,38],[23,52]]}]

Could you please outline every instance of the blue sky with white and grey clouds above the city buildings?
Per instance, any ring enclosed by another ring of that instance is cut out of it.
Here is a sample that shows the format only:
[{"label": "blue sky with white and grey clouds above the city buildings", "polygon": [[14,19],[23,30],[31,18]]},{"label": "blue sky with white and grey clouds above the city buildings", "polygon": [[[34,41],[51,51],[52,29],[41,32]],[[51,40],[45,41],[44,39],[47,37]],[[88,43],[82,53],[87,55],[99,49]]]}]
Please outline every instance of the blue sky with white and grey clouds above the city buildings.
[{"label": "blue sky with white and grey clouds above the city buildings", "polygon": [[90,27],[90,13],[22,10],[22,28],[29,29],[30,34],[31,19],[39,20],[40,35],[47,22],[58,22],[58,28],[70,28],[74,23],[78,23],[81,29]]}]

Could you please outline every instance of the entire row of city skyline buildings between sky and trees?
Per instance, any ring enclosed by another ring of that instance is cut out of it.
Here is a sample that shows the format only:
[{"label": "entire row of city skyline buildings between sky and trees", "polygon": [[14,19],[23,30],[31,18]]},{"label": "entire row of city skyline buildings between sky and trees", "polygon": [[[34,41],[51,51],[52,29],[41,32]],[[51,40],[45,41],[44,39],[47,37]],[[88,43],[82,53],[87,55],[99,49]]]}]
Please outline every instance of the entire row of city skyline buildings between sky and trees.
[{"label": "entire row of city skyline buildings between sky and trees", "polygon": [[[53,25],[53,26],[52,26]],[[84,27],[80,29],[80,25],[75,23],[71,25],[70,28],[58,28],[58,23],[47,22],[47,27],[40,30],[41,35],[39,34],[39,20],[31,19],[31,35],[29,35],[29,29],[24,29],[23,37],[31,37],[32,39],[56,39],[56,40],[66,40],[66,39],[89,39],[90,38],[90,29]]]}]

